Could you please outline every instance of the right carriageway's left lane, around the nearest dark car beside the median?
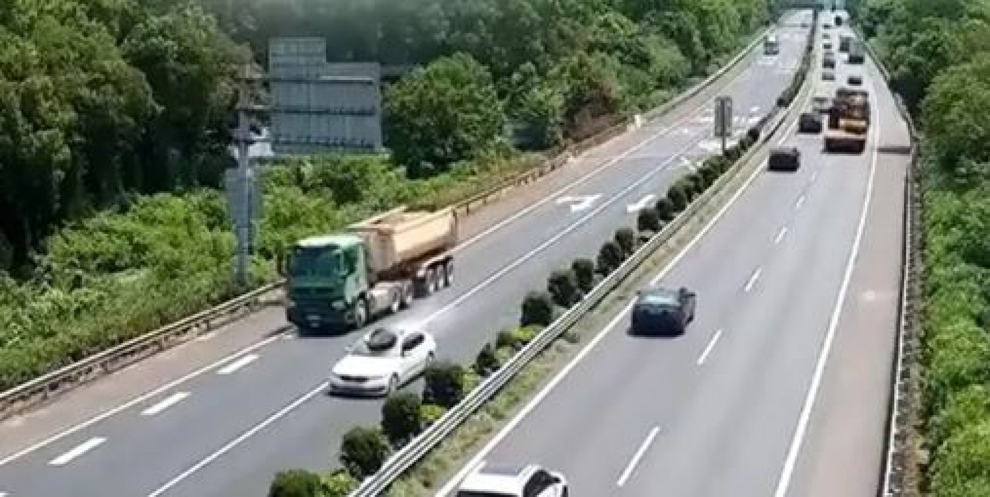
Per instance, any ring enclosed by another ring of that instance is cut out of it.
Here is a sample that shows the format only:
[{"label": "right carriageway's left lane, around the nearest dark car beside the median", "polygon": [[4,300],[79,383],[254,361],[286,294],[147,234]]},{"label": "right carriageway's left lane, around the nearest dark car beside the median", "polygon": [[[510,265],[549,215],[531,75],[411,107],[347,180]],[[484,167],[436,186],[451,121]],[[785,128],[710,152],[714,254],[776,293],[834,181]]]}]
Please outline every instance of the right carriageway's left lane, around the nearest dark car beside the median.
[{"label": "right carriageway's left lane, around the nearest dark car beside the median", "polygon": [[[563,470],[582,493],[613,494],[621,466],[637,444],[657,426],[662,440],[665,419],[694,387],[696,362],[731,318],[727,310],[745,292],[751,272],[773,243],[787,207],[799,194],[800,184],[789,180],[800,176],[762,174],[704,243],[663,279],[666,285],[698,291],[698,317],[687,335],[676,340],[631,338],[625,335],[624,319],[485,458],[496,464],[540,461]],[[768,195],[774,191],[776,195]],[[664,400],[641,408],[637,404],[644,398]],[[603,464],[609,467],[598,470]]]}]

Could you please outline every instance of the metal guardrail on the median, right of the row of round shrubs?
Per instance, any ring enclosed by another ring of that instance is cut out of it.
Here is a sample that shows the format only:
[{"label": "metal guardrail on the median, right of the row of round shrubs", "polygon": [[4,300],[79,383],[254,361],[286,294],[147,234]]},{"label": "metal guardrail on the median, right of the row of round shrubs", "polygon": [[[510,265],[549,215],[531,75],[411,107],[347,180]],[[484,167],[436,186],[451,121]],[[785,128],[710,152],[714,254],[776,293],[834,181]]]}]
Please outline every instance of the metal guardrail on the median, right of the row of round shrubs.
[{"label": "metal guardrail on the median, right of the row of round shrubs", "polygon": [[[803,89],[806,90],[807,87],[808,84],[806,81]],[[466,421],[485,402],[494,397],[513,376],[525,368],[547,346],[559,338],[578,319],[598,305],[611,291],[615,290],[616,287],[629,278],[643,264],[647,257],[659,249],[663,243],[675,236],[685,224],[692,221],[699,211],[708,207],[716,196],[722,194],[733,181],[743,176],[743,172],[751,172],[752,168],[760,167],[762,163],[760,161],[754,161],[753,158],[756,154],[763,151],[765,143],[775,135],[780,125],[801,104],[802,99],[799,97],[804,93],[806,91],[796,96],[785,109],[775,107],[771,114],[767,116],[764,122],[764,130],[760,133],[759,139],[746,150],[743,156],[740,157],[726,174],[722,175],[708,190],[695,199],[690,206],[685,208],[670,223],[665,225],[663,229],[646,241],[619,268],[599,282],[580,302],[567,309],[566,312],[550,323],[498,371],[486,377],[478,386],[468,392],[460,402],[447,410],[439,420],[403,446],[398,452],[390,456],[375,474],[365,478],[361,482],[360,486],[350,494],[350,497],[375,497],[385,491],[389,485],[409,470],[417,461],[439,446],[447,435]]]}]

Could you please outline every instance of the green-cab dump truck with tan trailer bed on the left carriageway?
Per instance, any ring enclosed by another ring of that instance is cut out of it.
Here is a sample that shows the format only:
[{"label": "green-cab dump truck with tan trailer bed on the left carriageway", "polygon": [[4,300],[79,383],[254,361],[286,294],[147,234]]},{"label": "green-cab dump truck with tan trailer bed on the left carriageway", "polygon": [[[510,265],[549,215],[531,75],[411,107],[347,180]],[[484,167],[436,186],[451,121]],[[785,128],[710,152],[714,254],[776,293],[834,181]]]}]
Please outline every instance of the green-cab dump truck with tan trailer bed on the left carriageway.
[{"label": "green-cab dump truck with tan trailer bed on the left carriageway", "polygon": [[297,241],[289,256],[286,318],[300,328],[359,329],[448,287],[457,218],[397,207],[341,233]]}]

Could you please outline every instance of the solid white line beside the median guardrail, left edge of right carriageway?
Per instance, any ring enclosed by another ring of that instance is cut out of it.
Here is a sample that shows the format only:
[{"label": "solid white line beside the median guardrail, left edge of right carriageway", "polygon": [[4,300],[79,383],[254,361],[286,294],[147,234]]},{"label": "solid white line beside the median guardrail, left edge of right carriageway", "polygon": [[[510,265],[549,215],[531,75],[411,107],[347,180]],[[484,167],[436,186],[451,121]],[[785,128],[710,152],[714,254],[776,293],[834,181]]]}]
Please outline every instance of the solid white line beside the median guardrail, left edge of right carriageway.
[{"label": "solid white line beside the median guardrail, left edge of right carriageway", "polygon": [[[763,167],[765,166],[766,166],[766,162],[764,161]],[[684,248],[682,248],[680,252],[678,252],[677,255],[675,255],[674,258],[671,259],[670,262],[668,262],[667,265],[664,266],[663,269],[661,269],[660,272],[656,274],[655,277],[653,277],[653,279],[650,281],[650,285],[656,285],[657,282],[663,279],[663,277],[665,277],[667,273],[669,273],[670,270],[673,269],[673,267],[677,265],[677,263],[679,263],[680,260],[683,259],[685,255],[687,255],[687,253],[695,246],[695,244],[697,244],[706,234],[708,234],[708,232],[715,226],[715,224],[719,221],[719,219],[721,219],[725,215],[725,213],[729,210],[730,207],[733,207],[736,204],[739,198],[743,195],[743,192],[745,192],[746,189],[749,188],[749,185],[751,185],[752,182],[756,179],[756,177],[759,176],[759,173],[762,172],[763,167],[759,167],[753,170],[752,174],[749,175],[749,178],[746,179],[745,183],[743,183],[743,186],[740,188],[740,190],[736,192],[736,194],[734,194],[733,197],[729,199],[729,202],[726,203],[726,205],[723,206],[721,209],[719,209],[719,211],[716,212],[715,216],[712,217],[707,224],[705,224],[705,226],[701,229],[701,231],[699,231],[698,234],[696,234],[694,238],[692,238],[691,241],[689,241],[687,245],[685,245]],[[453,489],[457,486],[457,484],[460,483],[460,481],[464,479],[465,476],[467,476],[467,473],[469,473],[474,467],[477,467],[478,463],[480,463],[480,461],[483,460],[485,456],[488,456],[495,449],[495,447],[498,446],[499,443],[505,440],[505,438],[508,437],[510,433],[512,433],[512,431],[516,428],[516,426],[518,426],[523,421],[523,419],[525,419],[531,412],[533,412],[534,409],[537,408],[538,405],[540,405],[541,402],[543,402],[546,395],[548,395],[549,392],[552,391],[553,388],[557,384],[559,384],[560,381],[562,381],[563,378],[566,377],[568,373],[571,372],[571,370],[577,367],[577,365],[582,360],[584,360],[584,358],[587,357],[588,354],[591,354],[591,351],[595,349],[595,347],[602,341],[602,339],[605,338],[606,335],[609,334],[610,331],[612,331],[612,329],[618,326],[618,324],[633,309],[634,303],[635,302],[630,302],[629,304],[626,305],[626,307],[624,307],[621,311],[619,311],[619,313],[616,314],[616,316],[613,317],[612,320],[609,321],[609,323],[606,324],[605,327],[602,328],[601,331],[599,331],[598,334],[595,335],[591,339],[591,341],[588,342],[588,344],[585,345],[584,348],[577,353],[576,356],[574,356],[574,359],[571,359],[570,362],[567,363],[567,365],[564,366],[559,373],[556,373],[556,375],[553,376],[539,392],[537,392],[537,394],[529,401],[529,403],[523,406],[523,408],[520,409],[520,411],[516,414],[516,416],[513,417],[512,420],[510,420],[509,423],[502,428],[502,430],[500,430],[497,434],[495,434],[495,436],[488,441],[488,444],[486,444],[485,447],[481,449],[481,451],[478,451],[478,454],[476,454],[473,458],[471,458],[470,461],[464,464],[464,466],[459,471],[457,471],[457,473],[454,474],[453,477],[447,480],[446,484],[440,489],[440,491],[437,492],[436,494],[437,497],[445,497],[447,494],[452,492]]]}]

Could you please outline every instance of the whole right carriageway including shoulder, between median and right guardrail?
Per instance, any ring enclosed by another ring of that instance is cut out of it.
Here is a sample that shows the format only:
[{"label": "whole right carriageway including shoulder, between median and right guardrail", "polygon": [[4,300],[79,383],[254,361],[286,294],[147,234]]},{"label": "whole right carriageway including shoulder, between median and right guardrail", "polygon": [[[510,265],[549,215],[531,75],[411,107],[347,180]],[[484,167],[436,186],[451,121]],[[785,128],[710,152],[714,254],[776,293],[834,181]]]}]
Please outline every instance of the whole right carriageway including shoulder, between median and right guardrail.
[{"label": "whole right carriageway including shoulder, between median and right guardrail", "polygon": [[632,337],[627,307],[438,495],[477,464],[530,462],[578,497],[876,495],[909,161],[881,150],[910,141],[875,67],[839,60],[872,96],[866,151],[787,129],[800,171],[755,175],[654,276],[697,291],[686,335]]}]

